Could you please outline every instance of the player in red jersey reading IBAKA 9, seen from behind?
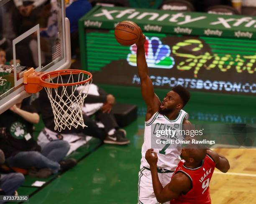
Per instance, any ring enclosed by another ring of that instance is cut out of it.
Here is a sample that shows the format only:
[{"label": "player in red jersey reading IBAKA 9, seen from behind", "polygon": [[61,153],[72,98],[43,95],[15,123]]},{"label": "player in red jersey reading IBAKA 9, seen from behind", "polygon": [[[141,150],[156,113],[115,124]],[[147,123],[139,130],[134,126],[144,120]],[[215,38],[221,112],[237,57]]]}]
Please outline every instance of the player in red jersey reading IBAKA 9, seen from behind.
[{"label": "player in red jersey reading IBAKA 9, seen from behind", "polygon": [[153,151],[147,150],[146,160],[150,165],[154,193],[160,203],[211,204],[209,183],[214,168],[223,173],[230,168],[228,159],[222,155],[190,144],[182,148],[181,157],[184,160],[179,162],[171,182],[163,188],[157,174],[158,158]]}]

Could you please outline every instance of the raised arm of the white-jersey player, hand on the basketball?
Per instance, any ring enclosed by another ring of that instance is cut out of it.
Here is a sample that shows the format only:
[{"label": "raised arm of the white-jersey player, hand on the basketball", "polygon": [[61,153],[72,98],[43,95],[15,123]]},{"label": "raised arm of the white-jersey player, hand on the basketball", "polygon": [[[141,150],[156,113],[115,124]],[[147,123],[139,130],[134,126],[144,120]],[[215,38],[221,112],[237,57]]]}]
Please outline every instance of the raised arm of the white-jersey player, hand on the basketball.
[{"label": "raised arm of the white-jersey player, hand on the basketball", "polygon": [[159,110],[160,100],[154,93],[154,87],[150,77],[148,76],[148,65],[145,57],[144,43],[146,41],[145,35],[141,32],[141,36],[136,43],[137,45],[137,68],[138,75],[141,80],[141,94],[143,100],[147,104],[146,121],[152,117],[152,115]]}]

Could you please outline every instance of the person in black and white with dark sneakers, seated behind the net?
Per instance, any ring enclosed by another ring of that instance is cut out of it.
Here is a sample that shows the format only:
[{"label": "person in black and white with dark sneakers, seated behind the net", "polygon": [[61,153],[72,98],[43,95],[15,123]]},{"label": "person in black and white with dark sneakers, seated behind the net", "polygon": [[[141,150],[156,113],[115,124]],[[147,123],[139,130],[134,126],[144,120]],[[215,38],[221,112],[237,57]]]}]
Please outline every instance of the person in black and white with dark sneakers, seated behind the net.
[{"label": "person in black and white with dark sneakers, seated behind the net", "polygon": [[[62,79],[63,83],[67,82],[67,76],[62,77]],[[94,93],[92,92],[92,90],[95,90]],[[59,89],[58,91],[61,91],[61,89]],[[83,133],[85,135],[99,138],[101,141],[104,141],[108,144],[122,145],[130,143],[130,141],[125,138],[125,130],[118,127],[115,117],[111,112],[112,106],[115,103],[115,97],[113,95],[107,94],[104,90],[98,88],[96,85],[91,85],[90,91],[91,92],[89,92],[87,98],[85,99],[85,107],[88,104],[93,104],[93,107],[91,107],[91,110],[87,109],[87,112],[84,112],[83,114],[84,123],[88,127],[82,128],[81,126],[79,126],[77,127],[77,129],[72,127],[70,130],[66,128],[60,133]],[[42,90],[40,92],[39,102],[41,107],[42,119],[46,128],[55,132],[54,114],[45,90]],[[97,126],[97,122],[91,117],[92,115],[95,115],[95,119],[97,121],[102,122],[102,124],[104,125],[103,129]]]}]

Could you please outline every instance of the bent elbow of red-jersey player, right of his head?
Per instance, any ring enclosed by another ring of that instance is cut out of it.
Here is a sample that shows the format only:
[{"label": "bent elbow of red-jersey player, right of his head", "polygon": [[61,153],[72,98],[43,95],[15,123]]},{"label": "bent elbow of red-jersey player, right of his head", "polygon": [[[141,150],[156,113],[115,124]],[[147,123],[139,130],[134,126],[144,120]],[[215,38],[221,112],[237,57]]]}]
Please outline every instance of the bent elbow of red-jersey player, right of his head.
[{"label": "bent elbow of red-jersey player, right of his head", "polygon": [[226,173],[228,172],[228,169],[230,169],[230,165],[228,162],[228,159],[224,157],[223,155],[218,154],[217,152],[214,152],[210,149],[207,150],[207,154],[212,157],[212,159],[215,162],[215,167],[219,169],[221,172]]}]

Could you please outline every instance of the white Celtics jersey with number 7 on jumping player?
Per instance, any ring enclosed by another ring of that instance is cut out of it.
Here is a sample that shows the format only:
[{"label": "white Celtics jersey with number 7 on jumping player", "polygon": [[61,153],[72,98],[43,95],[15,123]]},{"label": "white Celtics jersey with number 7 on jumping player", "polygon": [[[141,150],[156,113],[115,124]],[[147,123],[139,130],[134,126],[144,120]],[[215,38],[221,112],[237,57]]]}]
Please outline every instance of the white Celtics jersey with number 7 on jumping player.
[{"label": "white Celtics jersey with number 7 on jumping player", "polygon": [[[145,132],[144,132],[144,143],[142,145],[141,148],[141,154],[142,154],[142,158],[141,158],[141,165],[144,167],[149,168],[149,164],[145,159],[145,154],[146,151],[148,149],[153,148],[154,152],[157,153],[157,157],[158,157],[158,162],[157,162],[157,167],[160,169],[167,169],[170,171],[174,171],[175,168],[177,167],[177,164],[180,161],[180,152],[181,152],[181,146],[177,148],[177,145],[172,146],[171,144],[162,144],[163,148],[161,149],[156,149],[154,148],[155,144],[151,145],[152,142],[152,134],[151,134],[151,129],[152,131],[154,131],[154,133],[157,130],[161,130],[161,129],[172,129],[175,131],[178,130],[182,130],[182,124],[183,124],[183,120],[188,119],[188,114],[187,112],[185,112],[184,110],[181,110],[178,114],[178,117],[175,120],[169,120],[165,115],[160,114],[159,112],[156,112],[151,119],[149,119],[148,121],[145,122]],[[183,136],[182,137],[173,137],[173,138],[169,138],[172,140],[183,140]],[[159,141],[163,140],[160,139],[159,137]],[[174,147],[172,149],[172,147]]]}]

